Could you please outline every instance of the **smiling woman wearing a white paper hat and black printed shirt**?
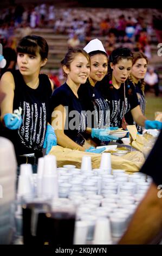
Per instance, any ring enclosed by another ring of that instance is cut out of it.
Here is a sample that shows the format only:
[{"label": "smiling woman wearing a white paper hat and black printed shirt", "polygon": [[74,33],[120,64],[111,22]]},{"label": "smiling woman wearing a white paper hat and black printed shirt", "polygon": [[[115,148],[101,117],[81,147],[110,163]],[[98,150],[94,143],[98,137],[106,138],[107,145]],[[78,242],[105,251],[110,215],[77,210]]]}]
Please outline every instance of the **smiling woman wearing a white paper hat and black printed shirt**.
[{"label": "smiling woman wearing a white paper hat and black printed shirt", "polygon": [[[82,102],[83,107],[86,111],[90,111],[92,116],[88,118],[88,127],[93,128],[91,136],[92,138],[97,137],[104,141],[105,128],[109,127],[110,110],[108,102],[103,99],[98,88],[95,87],[97,82],[100,82],[103,77],[107,74],[108,58],[105,48],[99,39],[91,40],[85,48],[83,48],[90,56],[90,75],[85,84],[81,84],[78,95]],[[89,112],[87,112],[89,113]],[[102,135],[101,135],[101,129]],[[118,127],[116,127],[118,129]],[[106,132],[107,136],[107,132]],[[115,136],[109,136],[109,141],[112,139],[118,139]]]}]

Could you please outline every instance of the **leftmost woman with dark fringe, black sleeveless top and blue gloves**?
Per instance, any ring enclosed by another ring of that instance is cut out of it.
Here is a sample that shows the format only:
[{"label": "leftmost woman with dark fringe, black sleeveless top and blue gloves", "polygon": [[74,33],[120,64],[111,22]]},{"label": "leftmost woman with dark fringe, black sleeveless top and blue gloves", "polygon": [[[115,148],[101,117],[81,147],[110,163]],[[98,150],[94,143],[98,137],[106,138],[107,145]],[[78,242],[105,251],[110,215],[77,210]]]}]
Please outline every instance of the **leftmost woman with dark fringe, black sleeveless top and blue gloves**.
[{"label": "leftmost woman with dark fringe, black sleeveless top and blue gloves", "polygon": [[[56,145],[50,117],[49,100],[53,83],[40,69],[47,63],[48,44],[41,36],[29,35],[17,46],[18,69],[5,72],[1,78],[2,135],[15,146],[16,155],[35,153],[41,156],[42,148],[49,153]],[[20,112],[14,113],[15,109]]]}]

